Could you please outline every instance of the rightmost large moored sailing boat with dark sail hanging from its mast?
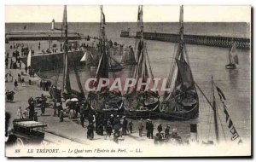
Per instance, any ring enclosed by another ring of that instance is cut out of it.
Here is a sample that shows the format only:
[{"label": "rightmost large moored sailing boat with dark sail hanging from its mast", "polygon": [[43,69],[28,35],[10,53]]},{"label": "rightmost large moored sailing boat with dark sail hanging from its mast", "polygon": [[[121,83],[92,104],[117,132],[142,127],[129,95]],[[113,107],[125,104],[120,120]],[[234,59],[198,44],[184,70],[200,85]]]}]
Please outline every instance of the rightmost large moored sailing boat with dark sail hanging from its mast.
[{"label": "rightmost large moored sailing boat with dark sail hanging from its mast", "polygon": [[195,119],[199,113],[199,103],[189,58],[183,43],[183,6],[180,9],[180,42],[174,59],[176,64],[173,60],[166,85],[171,92],[166,93],[161,102],[161,118],[168,120]]}]

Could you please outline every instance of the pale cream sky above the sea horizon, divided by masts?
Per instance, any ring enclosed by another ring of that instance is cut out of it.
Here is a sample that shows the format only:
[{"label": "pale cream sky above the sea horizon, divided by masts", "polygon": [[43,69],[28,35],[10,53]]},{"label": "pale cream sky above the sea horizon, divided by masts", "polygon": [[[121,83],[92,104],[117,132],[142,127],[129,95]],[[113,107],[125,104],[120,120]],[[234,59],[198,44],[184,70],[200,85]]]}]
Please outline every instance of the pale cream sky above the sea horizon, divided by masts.
[{"label": "pale cream sky above the sea horizon, divided by masts", "polygon": [[[103,6],[107,22],[136,22],[137,5]],[[175,22],[179,20],[179,6],[145,5],[145,22]],[[61,22],[64,7],[61,5],[6,5],[5,22]],[[184,5],[184,21],[193,22],[250,22],[250,6],[189,6]],[[67,5],[69,22],[99,22],[98,5]]]}]

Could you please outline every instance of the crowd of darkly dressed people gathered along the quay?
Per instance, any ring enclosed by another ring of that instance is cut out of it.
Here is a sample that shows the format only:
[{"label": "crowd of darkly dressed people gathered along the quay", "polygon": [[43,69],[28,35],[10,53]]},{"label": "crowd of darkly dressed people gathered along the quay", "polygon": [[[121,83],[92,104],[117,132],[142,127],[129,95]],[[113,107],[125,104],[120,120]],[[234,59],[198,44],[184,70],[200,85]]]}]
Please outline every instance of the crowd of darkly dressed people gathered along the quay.
[{"label": "crowd of darkly dressed people gathered along the quay", "polygon": [[[109,42],[111,46],[118,45],[117,43]],[[82,43],[82,47],[85,48],[85,43]],[[17,45],[13,46],[12,48],[15,48],[15,52],[13,53],[13,57],[15,57],[16,61],[13,62],[12,59],[9,61],[9,54],[7,54],[6,57],[6,67],[15,68],[16,66],[20,65],[21,68],[21,61],[19,60],[20,53],[17,50]],[[21,55],[27,55],[29,49],[28,48],[21,48]],[[11,57],[12,58],[12,57]],[[10,62],[10,65],[9,65]],[[31,67],[25,67],[25,72],[27,73],[27,70],[29,71],[29,74],[32,76],[34,72],[32,72]],[[31,74],[32,72],[32,74]],[[13,79],[11,71],[7,73],[7,76],[11,78],[12,82],[15,80],[15,90],[18,90],[18,85],[21,83],[22,85],[25,83],[25,79],[21,77],[20,73],[18,73],[18,78]],[[51,87],[51,83],[49,80],[42,79],[39,83],[40,90],[49,91],[49,88]],[[11,95],[13,94],[13,91],[7,91],[6,95],[9,96],[9,100],[13,100],[13,97]],[[14,94],[13,94],[14,95]],[[13,96],[12,95],[12,96]],[[79,118],[79,122],[83,128],[87,128],[87,138],[89,140],[93,140],[95,133],[99,136],[103,136],[104,139],[112,139],[114,142],[119,142],[120,139],[123,138],[123,136],[131,135],[132,133],[136,132],[138,130],[139,137],[143,137],[143,131],[146,130],[146,136],[148,139],[154,139],[163,141],[164,139],[168,138],[170,136],[170,126],[166,125],[166,129],[163,130],[163,126],[159,124],[157,126],[157,133],[154,136],[154,123],[152,120],[147,119],[145,122],[143,119],[139,119],[137,124],[134,124],[134,120],[127,119],[125,115],[120,114],[112,114],[112,113],[98,113],[91,109],[90,102],[84,101],[72,101],[69,102],[69,104],[66,104],[66,109],[63,108],[63,103],[61,101],[55,101],[52,100],[52,106],[49,106],[46,102],[48,99],[43,94],[40,97],[33,98],[32,96],[28,99],[28,107],[25,108],[25,110],[22,109],[22,107],[19,107],[17,109],[17,117],[19,119],[31,119],[34,121],[38,121],[38,112],[35,110],[35,107],[40,107],[41,113],[40,116],[44,117],[45,115],[45,109],[47,107],[51,107],[53,109],[53,117],[59,118],[60,122],[63,122],[64,119],[68,116],[70,119],[77,119]],[[88,124],[85,125],[85,121],[88,121]],[[136,129],[134,129],[134,125],[137,126]]]}]

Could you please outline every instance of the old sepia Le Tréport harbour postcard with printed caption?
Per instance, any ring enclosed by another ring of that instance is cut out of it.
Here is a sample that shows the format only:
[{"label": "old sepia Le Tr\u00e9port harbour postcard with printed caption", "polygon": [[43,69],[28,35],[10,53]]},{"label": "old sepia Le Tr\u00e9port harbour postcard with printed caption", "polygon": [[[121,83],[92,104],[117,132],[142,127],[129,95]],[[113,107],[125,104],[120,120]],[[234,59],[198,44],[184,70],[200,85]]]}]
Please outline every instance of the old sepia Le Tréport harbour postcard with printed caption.
[{"label": "old sepia Le Tr\u00e9port harbour postcard with printed caption", "polygon": [[6,5],[5,156],[252,155],[251,7]]}]

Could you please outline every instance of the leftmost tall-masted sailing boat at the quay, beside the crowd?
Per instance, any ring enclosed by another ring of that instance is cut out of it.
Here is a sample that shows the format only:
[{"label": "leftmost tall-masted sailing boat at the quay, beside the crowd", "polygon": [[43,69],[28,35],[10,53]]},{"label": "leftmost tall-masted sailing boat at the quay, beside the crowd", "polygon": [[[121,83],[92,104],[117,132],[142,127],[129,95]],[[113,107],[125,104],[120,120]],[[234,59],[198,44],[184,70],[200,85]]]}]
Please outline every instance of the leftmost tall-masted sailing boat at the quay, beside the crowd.
[{"label": "leftmost tall-masted sailing boat at the quay, beside the crowd", "polygon": [[[62,28],[64,28],[65,31],[65,42],[64,42],[64,55],[63,55],[63,82],[62,82],[62,97],[67,100],[73,97],[78,98],[79,100],[84,99],[84,91],[82,89],[82,84],[80,83],[79,73],[77,72],[76,67],[74,67],[74,72],[76,74],[77,83],[79,85],[79,91],[72,90],[71,84],[70,84],[70,78],[69,78],[69,62],[68,62],[68,39],[67,39],[67,5],[64,7],[64,13],[63,13],[63,21],[62,21]],[[50,95],[55,98],[57,101],[60,101],[59,98],[61,95],[61,90],[57,88],[56,85],[54,85],[51,90],[49,91]]]}]

